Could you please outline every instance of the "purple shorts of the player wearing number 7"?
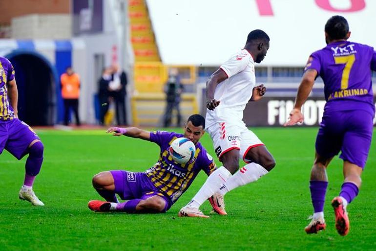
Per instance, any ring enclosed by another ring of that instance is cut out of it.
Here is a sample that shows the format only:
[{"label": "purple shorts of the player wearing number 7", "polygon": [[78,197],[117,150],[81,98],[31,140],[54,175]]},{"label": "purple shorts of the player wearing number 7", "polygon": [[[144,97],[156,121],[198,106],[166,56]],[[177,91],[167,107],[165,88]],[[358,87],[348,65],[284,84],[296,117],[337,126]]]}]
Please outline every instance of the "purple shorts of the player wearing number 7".
[{"label": "purple shorts of the player wearing number 7", "polygon": [[363,110],[324,113],[316,137],[316,152],[339,158],[364,169],[371,146],[373,116]]}]

